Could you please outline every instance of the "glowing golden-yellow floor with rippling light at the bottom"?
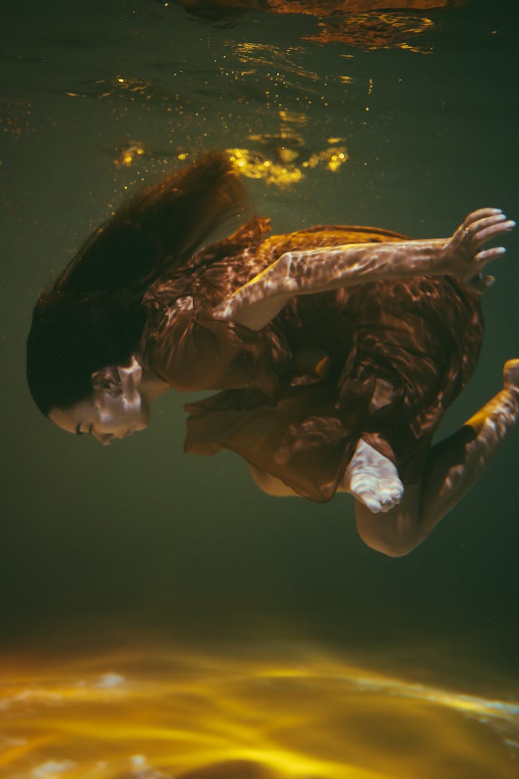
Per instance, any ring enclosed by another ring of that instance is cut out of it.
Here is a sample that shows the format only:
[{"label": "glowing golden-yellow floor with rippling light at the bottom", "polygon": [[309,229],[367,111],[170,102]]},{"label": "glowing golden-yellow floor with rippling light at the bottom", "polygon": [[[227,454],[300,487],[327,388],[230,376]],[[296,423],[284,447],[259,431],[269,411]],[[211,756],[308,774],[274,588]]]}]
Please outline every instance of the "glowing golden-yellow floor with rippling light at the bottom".
[{"label": "glowing golden-yellow floor with rippling light at the bottom", "polygon": [[405,682],[316,651],[274,656],[161,649],[4,663],[0,776],[517,777],[517,703]]}]

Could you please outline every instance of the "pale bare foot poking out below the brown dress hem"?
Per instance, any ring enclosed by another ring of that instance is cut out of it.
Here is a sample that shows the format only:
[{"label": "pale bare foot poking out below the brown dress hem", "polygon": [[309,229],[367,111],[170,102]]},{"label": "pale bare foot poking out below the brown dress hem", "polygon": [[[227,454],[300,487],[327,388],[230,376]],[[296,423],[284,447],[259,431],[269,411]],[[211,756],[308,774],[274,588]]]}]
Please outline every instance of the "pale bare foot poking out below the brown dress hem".
[{"label": "pale bare foot poking out below the brown dress hem", "polygon": [[349,492],[373,514],[385,513],[402,500],[404,485],[391,460],[360,439],[345,470],[342,491]]}]

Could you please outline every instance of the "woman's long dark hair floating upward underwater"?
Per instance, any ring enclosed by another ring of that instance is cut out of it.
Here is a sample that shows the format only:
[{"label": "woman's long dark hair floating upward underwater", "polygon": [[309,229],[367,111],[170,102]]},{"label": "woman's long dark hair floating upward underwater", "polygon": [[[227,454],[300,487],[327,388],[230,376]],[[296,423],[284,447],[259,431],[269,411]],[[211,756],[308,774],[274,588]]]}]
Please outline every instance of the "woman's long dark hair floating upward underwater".
[{"label": "woman's long dark hair floating upward underwater", "polygon": [[142,297],[246,202],[223,153],[142,189],[82,245],[47,287],[27,338],[27,382],[43,414],[92,393],[90,377],[128,365],[146,321]]}]

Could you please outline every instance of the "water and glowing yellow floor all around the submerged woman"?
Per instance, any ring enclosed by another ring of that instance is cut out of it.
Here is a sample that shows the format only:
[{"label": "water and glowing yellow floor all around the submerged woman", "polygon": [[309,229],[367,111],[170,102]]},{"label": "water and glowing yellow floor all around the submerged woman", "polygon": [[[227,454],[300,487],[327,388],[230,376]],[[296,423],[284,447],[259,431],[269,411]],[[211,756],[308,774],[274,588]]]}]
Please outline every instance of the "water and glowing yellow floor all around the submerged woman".
[{"label": "water and glowing yellow floor all around the submerged woman", "polygon": [[[24,380],[51,274],[136,185],[202,150],[232,150],[275,231],[443,236],[486,205],[517,219],[513,5],[2,8],[0,775],[517,775],[517,440],[391,560],[356,537],[347,497],[269,499],[237,457],[185,456],[191,396],[105,449],[41,418]],[[517,356],[507,246],[444,432]]]}]

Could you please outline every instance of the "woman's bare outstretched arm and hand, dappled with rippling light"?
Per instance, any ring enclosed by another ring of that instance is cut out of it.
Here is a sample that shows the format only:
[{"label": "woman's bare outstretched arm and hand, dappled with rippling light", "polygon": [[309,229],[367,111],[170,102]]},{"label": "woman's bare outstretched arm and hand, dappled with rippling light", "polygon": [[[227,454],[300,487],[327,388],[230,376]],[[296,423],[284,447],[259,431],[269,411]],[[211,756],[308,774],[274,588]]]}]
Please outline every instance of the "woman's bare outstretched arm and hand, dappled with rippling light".
[{"label": "woman's bare outstretched arm and hand, dappled with rippling light", "polygon": [[261,330],[293,297],[327,292],[379,279],[456,276],[468,286],[484,288],[482,270],[503,255],[502,246],[482,249],[515,227],[500,209],[469,214],[452,238],[391,241],[286,252],[262,273],[213,309],[216,319]]}]

